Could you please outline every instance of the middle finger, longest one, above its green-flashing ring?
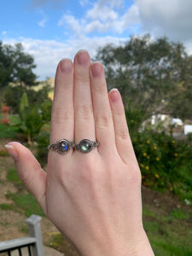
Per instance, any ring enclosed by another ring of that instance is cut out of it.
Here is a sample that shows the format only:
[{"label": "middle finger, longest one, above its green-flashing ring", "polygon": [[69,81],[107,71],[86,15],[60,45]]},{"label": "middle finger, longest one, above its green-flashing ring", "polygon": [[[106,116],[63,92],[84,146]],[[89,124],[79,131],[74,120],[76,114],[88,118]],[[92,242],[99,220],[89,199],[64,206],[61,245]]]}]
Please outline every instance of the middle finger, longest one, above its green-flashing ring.
[{"label": "middle finger, longest one, above its green-flashing ring", "polygon": [[90,90],[90,55],[80,50],[74,58],[74,113],[75,142],[96,140]]}]

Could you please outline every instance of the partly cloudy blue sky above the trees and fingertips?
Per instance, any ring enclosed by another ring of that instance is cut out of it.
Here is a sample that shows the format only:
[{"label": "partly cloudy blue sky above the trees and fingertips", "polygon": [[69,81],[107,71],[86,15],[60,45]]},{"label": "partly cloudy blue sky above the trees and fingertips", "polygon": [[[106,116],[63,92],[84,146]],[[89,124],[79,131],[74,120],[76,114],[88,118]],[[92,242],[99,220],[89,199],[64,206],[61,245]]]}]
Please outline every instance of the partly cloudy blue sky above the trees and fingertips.
[{"label": "partly cloudy blue sky above the trees and fingertips", "polygon": [[191,10],[192,0],[5,0],[0,41],[23,44],[43,80],[79,49],[94,58],[99,47],[125,44],[131,35],[166,36],[192,54]]}]

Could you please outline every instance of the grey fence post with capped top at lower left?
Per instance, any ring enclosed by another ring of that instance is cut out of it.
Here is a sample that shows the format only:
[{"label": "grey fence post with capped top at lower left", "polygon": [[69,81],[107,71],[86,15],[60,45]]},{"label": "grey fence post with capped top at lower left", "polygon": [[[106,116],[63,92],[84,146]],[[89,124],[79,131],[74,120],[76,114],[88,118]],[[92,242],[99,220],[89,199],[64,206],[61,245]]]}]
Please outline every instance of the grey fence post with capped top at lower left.
[{"label": "grey fence post with capped top at lower left", "polygon": [[44,256],[44,245],[41,236],[41,217],[32,214],[30,218],[26,218],[26,224],[29,227],[29,235],[36,238],[36,243],[32,246],[33,256]]}]

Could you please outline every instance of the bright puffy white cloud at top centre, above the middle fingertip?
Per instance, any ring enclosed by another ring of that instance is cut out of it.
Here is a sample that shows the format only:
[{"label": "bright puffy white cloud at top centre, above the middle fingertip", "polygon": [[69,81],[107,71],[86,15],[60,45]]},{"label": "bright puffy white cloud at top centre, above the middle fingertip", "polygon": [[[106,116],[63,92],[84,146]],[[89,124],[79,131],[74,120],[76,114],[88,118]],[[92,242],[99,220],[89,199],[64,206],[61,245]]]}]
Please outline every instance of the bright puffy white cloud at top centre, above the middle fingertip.
[{"label": "bright puffy white cloud at top centre, above the middle fingertip", "polygon": [[[86,0],[81,4],[84,5],[85,3],[88,4]],[[93,5],[90,5],[91,7],[87,9],[84,17],[79,20],[73,15],[63,15],[61,20],[58,21],[58,26],[64,26],[65,29],[68,28],[72,34],[74,33],[73,36],[79,38],[89,36],[93,32],[102,34],[118,33],[120,35],[124,32],[124,28],[127,29],[130,26],[127,15],[119,15],[118,8],[122,8],[123,3],[123,0],[99,0]]]}]

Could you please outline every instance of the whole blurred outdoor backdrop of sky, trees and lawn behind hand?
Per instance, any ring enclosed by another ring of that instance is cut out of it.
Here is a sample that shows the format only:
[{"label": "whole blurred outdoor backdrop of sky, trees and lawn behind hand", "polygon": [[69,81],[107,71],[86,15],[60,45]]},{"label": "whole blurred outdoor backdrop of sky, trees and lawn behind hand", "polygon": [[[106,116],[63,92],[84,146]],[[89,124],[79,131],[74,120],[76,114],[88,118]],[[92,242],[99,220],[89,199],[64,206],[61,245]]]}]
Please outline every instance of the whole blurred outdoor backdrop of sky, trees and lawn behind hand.
[{"label": "whole blurred outdoor backdrop of sky, trees and lawn behind hand", "polygon": [[25,144],[46,170],[55,68],[87,49],[118,88],[143,177],[155,255],[192,255],[192,2],[3,1],[0,8],[0,241],[43,216],[44,245],[78,255],[16,176],[3,145]]}]

